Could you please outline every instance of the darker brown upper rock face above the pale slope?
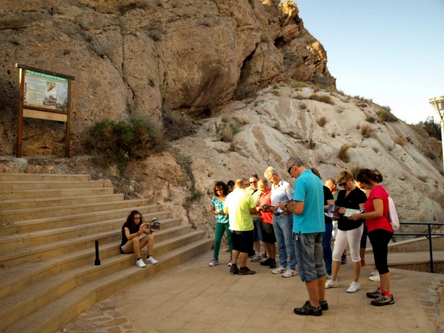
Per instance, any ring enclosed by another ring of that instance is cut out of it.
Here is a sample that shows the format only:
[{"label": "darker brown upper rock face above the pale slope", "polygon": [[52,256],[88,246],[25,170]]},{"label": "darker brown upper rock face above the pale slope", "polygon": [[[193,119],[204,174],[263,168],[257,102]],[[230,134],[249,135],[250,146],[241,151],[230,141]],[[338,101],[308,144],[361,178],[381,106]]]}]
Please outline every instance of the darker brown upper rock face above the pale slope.
[{"label": "darker brown upper rock face above the pale slope", "polygon": [[[103,118],[209,114],[273,81],[335,84],[292,1],[6,0],[1,10],[1,155],[16,149],[16,62],[76,77],[73,154]],[[23,140],[23,155],[60,153],[64,125],[25,119]]]}]

